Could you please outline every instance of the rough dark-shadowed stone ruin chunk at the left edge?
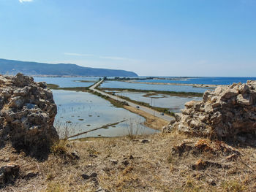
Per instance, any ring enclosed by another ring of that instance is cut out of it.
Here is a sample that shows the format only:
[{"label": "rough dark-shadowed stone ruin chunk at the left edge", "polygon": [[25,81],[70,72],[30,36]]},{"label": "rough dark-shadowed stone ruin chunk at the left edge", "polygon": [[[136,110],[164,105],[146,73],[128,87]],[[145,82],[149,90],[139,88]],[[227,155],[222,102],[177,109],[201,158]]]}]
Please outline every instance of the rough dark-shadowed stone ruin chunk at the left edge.
[{"label": "rough dark-shadowed stone ruin chunk at the left edge", "polygon": [[29,155],[44,155],[59,139],[53,127],[57,113],[52,92],[45,82],[17,74],[0,75],[0,145],[12,142]]}]

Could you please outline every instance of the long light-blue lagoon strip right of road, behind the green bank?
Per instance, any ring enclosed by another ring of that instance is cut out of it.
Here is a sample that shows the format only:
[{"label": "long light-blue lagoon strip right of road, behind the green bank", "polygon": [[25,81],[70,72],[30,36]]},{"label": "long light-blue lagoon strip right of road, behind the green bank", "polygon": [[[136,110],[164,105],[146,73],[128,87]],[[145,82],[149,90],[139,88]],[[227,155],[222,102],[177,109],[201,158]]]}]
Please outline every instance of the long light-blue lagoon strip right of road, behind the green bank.
[{"label": "long light-blue lagoon strip right of road, behind the green bank", "polygon": [[100,85],[101,88],[131,88],[136,90],[155,90],[155,91],[178,91],[204,93],[208,88],[193,88],[186,85],[151,85],[143,83],[130,83],[121,81],[106,81]]}]

